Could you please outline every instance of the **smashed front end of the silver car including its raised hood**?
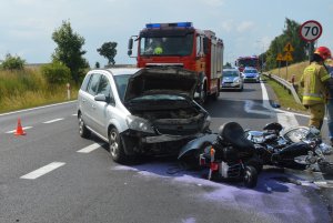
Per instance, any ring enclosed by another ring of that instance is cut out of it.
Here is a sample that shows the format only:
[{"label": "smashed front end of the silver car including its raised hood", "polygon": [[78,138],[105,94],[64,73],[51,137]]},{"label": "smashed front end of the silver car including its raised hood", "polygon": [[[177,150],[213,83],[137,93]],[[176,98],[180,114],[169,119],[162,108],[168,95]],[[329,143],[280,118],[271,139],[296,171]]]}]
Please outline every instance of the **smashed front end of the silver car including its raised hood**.
[{"label": "smashed front end of the silver car including its raised hood", "polygon": [[176,155],[189,141],[209,132],[210,116],[193,100],[196,73],[183,69],[143,69],[129,80],[124,105],[134,153]]}]

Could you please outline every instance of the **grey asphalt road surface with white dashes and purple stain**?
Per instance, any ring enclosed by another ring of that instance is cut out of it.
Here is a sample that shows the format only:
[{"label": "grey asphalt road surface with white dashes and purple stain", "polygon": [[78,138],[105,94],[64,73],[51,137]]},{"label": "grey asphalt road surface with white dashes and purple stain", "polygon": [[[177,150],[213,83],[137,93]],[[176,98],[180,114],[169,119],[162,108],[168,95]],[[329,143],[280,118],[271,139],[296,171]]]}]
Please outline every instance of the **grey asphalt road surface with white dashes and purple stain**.
[{"label": "grey asphalt road surface with white dashes and purple stain", "polygon": [[[221,92],[205,105],[211,129],[228,121],[256,130],[272,121],[306,123],[306,116],[271,110],[268,100],[256,83],[243,92]],[[97,138],[79,136],[75,109],[70,102],[0,115],[0,222],[332,221],[332,191],[313,183],[310,173],[268,166],[249,190],[210,182],[205,172],[186,171],[173,159],[119,165]],[[27,135],[12,133],[19,118],[30,128]]]}]

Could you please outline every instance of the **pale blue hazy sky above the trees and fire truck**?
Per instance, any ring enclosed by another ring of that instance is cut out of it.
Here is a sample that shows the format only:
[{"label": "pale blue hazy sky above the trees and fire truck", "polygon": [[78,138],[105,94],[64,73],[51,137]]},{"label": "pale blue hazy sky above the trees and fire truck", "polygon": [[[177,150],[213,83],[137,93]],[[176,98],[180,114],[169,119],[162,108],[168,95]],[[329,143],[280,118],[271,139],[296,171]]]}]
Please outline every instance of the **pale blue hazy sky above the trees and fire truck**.
[{"label": "pale blue hazy sky above the trees and fire truck", "polygon": [[134,64],[128,40],[145,23],[184,22],[212,30],[224,42],[224,63],[260,54],[284,30],[285,19],[321,23],[316,45],[333,51],[332,0],[0,0],[0,60],[19,55],[27,63],[48,63],[57,44],[52,33],[63,21],[84,38],[83,55],[94,67],[108,60],[97,49],[117,42],[117,64]]}]

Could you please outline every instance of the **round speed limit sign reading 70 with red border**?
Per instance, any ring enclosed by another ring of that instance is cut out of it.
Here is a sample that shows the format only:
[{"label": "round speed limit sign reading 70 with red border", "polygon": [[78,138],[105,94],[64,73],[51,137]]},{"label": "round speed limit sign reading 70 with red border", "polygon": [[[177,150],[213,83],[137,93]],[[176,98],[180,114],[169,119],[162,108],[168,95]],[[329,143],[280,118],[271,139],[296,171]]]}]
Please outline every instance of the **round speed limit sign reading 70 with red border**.
[{"label": "round speed limit sign reading 70 with red border", "polygon": [[309,20],[304,22],[300,28],[300,36],[307,42],[313,42],[322,34],[322,26],[317,21]]}]

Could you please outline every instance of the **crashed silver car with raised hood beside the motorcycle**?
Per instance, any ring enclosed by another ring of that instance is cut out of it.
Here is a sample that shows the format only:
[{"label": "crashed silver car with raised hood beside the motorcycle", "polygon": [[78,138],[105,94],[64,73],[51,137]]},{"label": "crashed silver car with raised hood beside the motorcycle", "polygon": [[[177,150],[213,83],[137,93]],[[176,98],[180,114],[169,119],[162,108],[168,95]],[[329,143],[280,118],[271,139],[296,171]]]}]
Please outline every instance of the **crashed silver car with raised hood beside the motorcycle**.
[{"label": "crashed silver car with raised hood beside the motorcycle", "polygon": [[89,71],[78,95],[79,132],[109,143],[115,162],[138,154],[176,155],[209,132],[210,116],[193,100],[198,74],[175,68]]}]

